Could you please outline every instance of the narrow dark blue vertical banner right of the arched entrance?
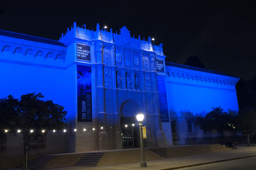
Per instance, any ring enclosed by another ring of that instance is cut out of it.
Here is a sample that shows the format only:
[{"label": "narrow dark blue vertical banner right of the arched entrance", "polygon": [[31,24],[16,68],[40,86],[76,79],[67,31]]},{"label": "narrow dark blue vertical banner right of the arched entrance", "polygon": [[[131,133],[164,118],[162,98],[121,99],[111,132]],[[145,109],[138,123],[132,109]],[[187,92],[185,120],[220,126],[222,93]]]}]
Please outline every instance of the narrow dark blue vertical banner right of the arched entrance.
[{"label": "narrow dark blue vertical banner right of the arched entrance", "polygon": [[165,78],[157,77],[157,87],[158,87],[158,100],[159,100],[159,110],[161,115],[161,122],[169,122],[169,111],[167,104],[166,95],[166,83]]}]

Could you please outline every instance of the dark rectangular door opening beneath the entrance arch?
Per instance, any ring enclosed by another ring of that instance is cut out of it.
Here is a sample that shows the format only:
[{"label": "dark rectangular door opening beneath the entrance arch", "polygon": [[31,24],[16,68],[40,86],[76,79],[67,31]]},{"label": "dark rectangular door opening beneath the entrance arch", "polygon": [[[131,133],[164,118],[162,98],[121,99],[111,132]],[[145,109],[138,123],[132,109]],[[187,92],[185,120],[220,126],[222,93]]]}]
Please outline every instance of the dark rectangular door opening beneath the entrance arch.
[{"label": "dark rectangular door opening beneath the entrance arch", "polygon": [[[135,126],[135,117],[121,117],[122,146],[123,148],[137,148],[139,139],[137,137],[137,126]],[[134,126],[132,125],[134,124]],[[125,126],[127,125],[127,126]]]}]

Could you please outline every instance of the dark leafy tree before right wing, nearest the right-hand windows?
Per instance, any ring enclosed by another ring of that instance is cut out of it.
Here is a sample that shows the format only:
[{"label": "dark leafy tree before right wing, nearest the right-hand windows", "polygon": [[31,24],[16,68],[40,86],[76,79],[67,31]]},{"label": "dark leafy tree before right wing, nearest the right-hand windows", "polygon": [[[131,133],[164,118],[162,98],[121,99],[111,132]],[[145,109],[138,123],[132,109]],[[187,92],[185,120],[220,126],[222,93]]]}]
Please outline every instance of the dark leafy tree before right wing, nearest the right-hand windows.
[{"label": "dark leafy tree before right wing, nearest the right-hand windows", "polygon": [[220,107],[213,108],[213,111],[207,113],[205,117],[198,115],[194,119],[194,124],[199,126],[200,129],[220,132],[222,145],[224,143],[223,131],[232,130],[234,128],[233,122],[234,116],[224,112]]}]

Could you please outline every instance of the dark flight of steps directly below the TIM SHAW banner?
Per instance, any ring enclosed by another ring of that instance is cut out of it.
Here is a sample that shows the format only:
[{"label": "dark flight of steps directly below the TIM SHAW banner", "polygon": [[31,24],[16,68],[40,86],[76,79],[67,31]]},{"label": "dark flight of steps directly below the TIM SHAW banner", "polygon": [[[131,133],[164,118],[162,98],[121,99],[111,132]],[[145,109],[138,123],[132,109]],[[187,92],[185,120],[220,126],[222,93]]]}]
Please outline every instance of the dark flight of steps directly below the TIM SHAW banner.
[{"label": "dark flight of steps directly below the TIM SHAW banner", "polygon": [[103,155],[103,152],[84,154],[84,156],[78,160],[75,166],[97,166]]}]

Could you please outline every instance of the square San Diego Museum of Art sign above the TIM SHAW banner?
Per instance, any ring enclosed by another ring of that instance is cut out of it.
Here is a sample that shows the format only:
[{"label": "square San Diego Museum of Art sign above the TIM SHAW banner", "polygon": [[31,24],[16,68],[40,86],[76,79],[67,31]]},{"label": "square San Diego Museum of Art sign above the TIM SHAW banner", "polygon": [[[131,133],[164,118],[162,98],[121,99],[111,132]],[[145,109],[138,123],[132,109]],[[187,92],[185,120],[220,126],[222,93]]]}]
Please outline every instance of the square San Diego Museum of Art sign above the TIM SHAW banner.
[{"label": "square San Diego Museum of Art sign above the TIM SHAW banner", "polygon": [[91,61],[91,47],[83,44],[76,44],[77,60]]}]

